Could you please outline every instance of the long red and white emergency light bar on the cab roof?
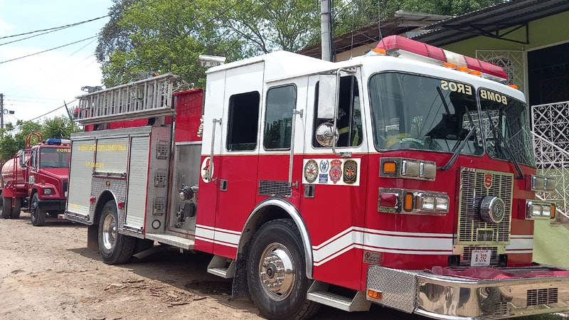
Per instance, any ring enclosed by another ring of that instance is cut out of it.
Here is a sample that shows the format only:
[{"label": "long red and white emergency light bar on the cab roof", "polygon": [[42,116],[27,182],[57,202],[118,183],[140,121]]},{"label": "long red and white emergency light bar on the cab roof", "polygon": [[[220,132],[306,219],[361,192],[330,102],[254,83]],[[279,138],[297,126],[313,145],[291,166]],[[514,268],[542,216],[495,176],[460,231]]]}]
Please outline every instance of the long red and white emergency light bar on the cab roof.
[{"label": "long red and white emergency light bar on the cab roof", "polygon": [[454,63],[457,67],[466,67],[469,70],[476,70],[493,80],[508,80],[508,75],[499,65],[493,65],[482,60],[470,58],[466,55],[454,53],[452,51],[427,45],[419,41],[411,40],[402,36],[388,36],[379,41],[377,49],[384,49],[389,53],[390,50],[404,50],[425,58],[439,60],[442,63]]}]

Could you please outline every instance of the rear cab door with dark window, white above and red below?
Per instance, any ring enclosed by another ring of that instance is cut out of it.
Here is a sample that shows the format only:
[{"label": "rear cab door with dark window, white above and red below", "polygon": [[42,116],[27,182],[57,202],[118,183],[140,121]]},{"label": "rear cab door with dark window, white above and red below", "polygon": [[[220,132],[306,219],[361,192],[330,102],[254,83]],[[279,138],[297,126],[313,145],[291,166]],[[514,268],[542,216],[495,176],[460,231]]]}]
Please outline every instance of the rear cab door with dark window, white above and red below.
[{"label": "rear cab door with dark window, white above and red below", "polygon": [[[213,253],[235,257],[239,234],[255,207],[264,63],[225,73],[219,154],[213,156],[216,218]],[[206,106],[207,108],[208,106]],[[218,134],[218,132],[216,132]]]}]

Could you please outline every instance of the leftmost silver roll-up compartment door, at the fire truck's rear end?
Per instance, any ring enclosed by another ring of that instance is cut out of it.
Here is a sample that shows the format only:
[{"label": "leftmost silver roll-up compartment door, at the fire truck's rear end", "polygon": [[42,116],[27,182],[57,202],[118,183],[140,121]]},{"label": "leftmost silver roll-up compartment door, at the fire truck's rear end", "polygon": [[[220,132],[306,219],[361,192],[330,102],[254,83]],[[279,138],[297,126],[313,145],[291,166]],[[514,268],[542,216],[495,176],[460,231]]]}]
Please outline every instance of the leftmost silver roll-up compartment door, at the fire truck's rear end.
[{"label": "leftmost silver roll-up compartment door, at the fire truck's rear end", "polygon": [[95,139],[93,137],[73,139],[69,165],[67,214],[85,220],[90,217],[91,222],[94,215],[90,215],[89,198],[95,168],[94,156]]}]

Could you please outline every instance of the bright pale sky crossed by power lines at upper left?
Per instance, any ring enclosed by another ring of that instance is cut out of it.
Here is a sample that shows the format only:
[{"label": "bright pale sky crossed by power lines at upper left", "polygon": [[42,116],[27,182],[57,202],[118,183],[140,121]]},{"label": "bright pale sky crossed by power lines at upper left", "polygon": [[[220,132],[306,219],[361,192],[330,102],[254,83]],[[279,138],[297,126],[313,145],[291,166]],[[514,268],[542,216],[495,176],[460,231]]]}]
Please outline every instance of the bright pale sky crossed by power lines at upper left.
[{"label": "bright pale sky crossed by power lines at upper left", "polygon": [[[14,111],[5,114],[5,123],[34,118],[41,122],[66,114],[65,108],[55,109],[63,101],[75,106],[71,101],[85,93],[81,87],[101,84],[101,72],[94,55],[97,38],[3,62],[97,36],[109,18],[9,44],[4,43],[38,33],[3,37],[106,16],[110,6],[112,0],[0,0],[0,93],[4,94],[4,109]],[[55,111],[46,114],[51,110]]]}]

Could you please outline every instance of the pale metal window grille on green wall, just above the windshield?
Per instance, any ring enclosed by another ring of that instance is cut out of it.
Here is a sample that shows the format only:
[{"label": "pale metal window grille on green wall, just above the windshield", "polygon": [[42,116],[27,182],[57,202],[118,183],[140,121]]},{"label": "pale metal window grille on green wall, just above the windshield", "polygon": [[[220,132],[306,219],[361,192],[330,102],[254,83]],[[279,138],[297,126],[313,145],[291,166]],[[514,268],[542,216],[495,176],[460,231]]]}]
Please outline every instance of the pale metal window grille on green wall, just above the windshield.
[{"label": "pale metal window grille on green wall, just above the windshield", "polygon": [[523,80],[523,51],[511,50],[476,50],[476,58],[504,68],[508,75],[507,84],[517,85],[523,92],[525,81]]}]

